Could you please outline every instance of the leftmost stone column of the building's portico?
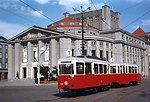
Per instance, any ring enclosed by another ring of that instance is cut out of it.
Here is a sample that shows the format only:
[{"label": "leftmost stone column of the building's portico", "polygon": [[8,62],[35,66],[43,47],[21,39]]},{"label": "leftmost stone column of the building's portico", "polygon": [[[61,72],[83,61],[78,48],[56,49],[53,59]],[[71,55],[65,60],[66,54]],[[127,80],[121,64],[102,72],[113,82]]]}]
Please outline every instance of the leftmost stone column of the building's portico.
[{"label": "leftmost stone column of the building's portico", "polygon": [[8,79],[15,78],[14,60],[13,60],[13,46],[8,44]]}]

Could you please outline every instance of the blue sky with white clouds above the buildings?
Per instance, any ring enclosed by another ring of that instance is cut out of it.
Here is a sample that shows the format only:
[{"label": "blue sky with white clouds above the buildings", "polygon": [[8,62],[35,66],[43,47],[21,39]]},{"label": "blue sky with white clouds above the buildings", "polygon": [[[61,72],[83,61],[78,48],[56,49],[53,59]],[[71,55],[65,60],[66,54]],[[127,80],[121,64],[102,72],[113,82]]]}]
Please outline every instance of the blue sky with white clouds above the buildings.
[{"label": "blue sky with white clouds above the buildings", "polygon": [[96,10],[104,4],[120,13],[122,29],[150,32],[150,0],[0,0],[0,36],[10,39],[34,25],[47,28],[63,19],[63,13],[76,13],[73,7]]}]

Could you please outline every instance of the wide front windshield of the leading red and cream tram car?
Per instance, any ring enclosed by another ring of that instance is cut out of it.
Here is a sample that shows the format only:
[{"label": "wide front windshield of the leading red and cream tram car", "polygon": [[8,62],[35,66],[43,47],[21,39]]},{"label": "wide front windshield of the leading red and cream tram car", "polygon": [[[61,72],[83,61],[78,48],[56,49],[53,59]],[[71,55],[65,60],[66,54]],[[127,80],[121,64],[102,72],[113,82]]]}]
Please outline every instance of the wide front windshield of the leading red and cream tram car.
[{"label": "wide front windshield of the leading red and cream tram car", "polygon": [[73,74],[73,64],[60,64],[59,65],[60,74]]}]

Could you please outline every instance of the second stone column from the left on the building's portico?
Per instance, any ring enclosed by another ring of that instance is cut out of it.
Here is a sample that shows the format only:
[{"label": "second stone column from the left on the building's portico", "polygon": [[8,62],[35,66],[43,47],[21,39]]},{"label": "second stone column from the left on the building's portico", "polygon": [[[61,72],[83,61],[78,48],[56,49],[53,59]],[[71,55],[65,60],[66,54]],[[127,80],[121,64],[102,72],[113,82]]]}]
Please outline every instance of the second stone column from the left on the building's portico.
[{"label": "second stone column from the left on the building's portico", "polygon": [[19,43],[15,43],[15,77],[17,78],[17,73],[19,74],[20,68],[20,52],[19,52]]}]

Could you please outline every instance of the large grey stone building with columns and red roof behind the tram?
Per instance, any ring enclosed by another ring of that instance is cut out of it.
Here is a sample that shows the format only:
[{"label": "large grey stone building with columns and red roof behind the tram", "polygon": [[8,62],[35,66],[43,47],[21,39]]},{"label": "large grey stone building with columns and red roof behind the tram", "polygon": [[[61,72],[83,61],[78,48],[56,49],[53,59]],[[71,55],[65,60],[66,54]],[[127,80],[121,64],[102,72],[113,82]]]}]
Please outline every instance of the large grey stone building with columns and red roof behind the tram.
[{"label": "large grey stone building with columns and red roof behind the tram", "polygon": [[[102,17],[103,14],[116,15],[106,5],[101,12],[103,12]],[[116,19],[117,22],[115,21],[113,29],[103,24],[103,27],[97,29],[100,26],[93,27],[87,23],[88,21],[84,22],[86,55],[97,56],[109,62],[113,60],[116,63],[138,64],[141,72],[147,72],[145,40],[118,28],[119,16],[116,15],[116,17],[118,19]],[[107,21],[110,25],[111,22],[112,20]],[[47,28],[33,26],[11,38],[8,41],[8,79],[34,79],[37,77],[38,62],[50,69],[57,67],[58,59],[67,57],[68,49],[72,51],[72,56],[80,56],[81,27],[79,19],[71,18],[68,15],[62,20],[48,25]],[[40,49],[43,46],[47,46],[47,49],[40,55]],[[40,57],[38,57],[39,55]],[[145,75],[149,75],[149,73],[145,73]]]}]

